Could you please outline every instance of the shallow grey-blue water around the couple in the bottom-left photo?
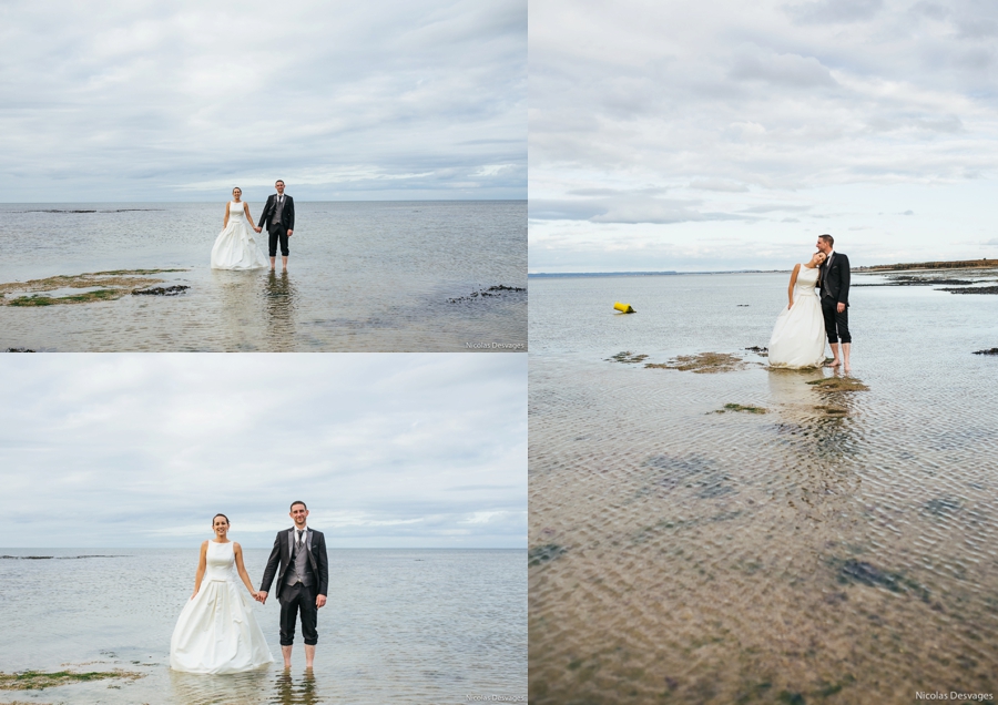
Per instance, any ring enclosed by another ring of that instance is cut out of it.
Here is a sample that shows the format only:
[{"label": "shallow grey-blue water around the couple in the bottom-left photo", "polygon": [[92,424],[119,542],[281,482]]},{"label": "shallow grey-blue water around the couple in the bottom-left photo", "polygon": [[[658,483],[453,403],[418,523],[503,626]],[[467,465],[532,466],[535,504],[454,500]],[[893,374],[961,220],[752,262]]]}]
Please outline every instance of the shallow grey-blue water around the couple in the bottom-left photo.
[{"label": "shallow grey-blue water around the couple in the bottom-left photo", "polygon": [[[263,574],[269,551],[246,549]],[[169,668],[170,635],[194,584],[186,550],[13,550],[0,559],[0,671],[144,675],[44,691],[0,692],[0,703],[464,703],[468,694],[526,697],[523,552],[333,550],[329,602],[319,611],[314,674],[301,632],[285,672],[279,605],[254,605],[277,663],[227,676]]]}]

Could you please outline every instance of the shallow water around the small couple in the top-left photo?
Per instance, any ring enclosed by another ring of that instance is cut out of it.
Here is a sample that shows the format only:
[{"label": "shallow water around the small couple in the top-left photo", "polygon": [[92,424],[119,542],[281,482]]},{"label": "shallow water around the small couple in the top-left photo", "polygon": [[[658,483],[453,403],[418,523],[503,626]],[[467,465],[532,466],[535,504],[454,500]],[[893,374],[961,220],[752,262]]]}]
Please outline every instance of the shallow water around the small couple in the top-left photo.
[{"label": "shallow water around the small couple in the top-left photo", "polygon": [[[254,217],[259,205],[249,204]],[[65,212],[74,210],[94,212]],[[470,297],[490,286],[527,286],[525,201],[296,204],[286,275],[279,260],[276,275],[211,269],[223,210],[221,203],[0,205],[8,253],[0,283],[185,268],[159,276],[162,286],[191,287],[170,297],[0,306],[0,349],[527,349],[526,292]],[[256,237],[265,253],[266,233]]]}]

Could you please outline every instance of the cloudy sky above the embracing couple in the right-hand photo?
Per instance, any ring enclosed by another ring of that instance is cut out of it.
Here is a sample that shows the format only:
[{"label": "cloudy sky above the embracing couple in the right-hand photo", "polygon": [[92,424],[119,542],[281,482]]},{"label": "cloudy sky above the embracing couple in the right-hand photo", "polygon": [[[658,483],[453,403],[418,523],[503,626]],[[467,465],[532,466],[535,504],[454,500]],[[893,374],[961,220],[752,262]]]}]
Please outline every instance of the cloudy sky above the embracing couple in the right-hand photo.
[{"label": "cloudy sky above the embracing couple in the right-hand photo", "polygon": [[530,2],[530,270],[998,257],[998,3]]}]

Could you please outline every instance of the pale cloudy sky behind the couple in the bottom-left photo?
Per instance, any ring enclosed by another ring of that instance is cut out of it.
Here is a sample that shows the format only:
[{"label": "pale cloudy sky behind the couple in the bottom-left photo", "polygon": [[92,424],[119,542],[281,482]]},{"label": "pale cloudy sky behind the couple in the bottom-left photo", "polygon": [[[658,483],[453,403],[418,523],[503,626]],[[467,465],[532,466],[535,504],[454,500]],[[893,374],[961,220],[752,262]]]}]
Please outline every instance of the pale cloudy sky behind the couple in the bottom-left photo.
[{"label": "pale cloudy sky behind the couple in the bottom-left photo", "polygon": [[[281,358],[279,360],[277,358]],[[525,355],[8,355],[0,546],[520,548]]]}]

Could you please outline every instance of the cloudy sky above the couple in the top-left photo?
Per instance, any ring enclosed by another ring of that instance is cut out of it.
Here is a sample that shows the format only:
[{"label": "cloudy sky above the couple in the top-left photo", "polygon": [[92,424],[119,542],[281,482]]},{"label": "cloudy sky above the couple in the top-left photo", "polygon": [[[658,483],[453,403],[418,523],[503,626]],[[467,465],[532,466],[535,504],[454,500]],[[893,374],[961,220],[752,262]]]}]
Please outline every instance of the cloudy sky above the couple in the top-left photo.
[{"label": "cloudy sky above the couple in the top-left photo", "polygon": [[525,198],[525,0],[0,0],[3,202]]}]

